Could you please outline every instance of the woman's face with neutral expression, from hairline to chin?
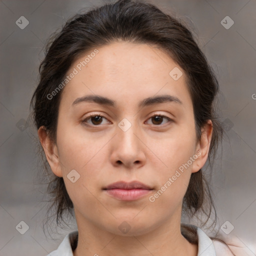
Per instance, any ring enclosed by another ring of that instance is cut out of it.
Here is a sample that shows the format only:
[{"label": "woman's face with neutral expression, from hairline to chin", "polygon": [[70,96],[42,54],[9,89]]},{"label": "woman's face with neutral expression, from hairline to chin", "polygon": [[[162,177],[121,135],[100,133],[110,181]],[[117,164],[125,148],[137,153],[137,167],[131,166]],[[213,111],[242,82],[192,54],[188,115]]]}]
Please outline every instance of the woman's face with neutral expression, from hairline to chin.
[{"label": "woman's face with neutral expression, from hairline to chin", "polygon": [[[134,235],[171,220],[179,225],[191,172],[206,161],[184,71],[147,44],[115,42],[91,52],[67,72],[74,75],[61,95],[56,158],[48,159],[64,179],[78,226]],[[105,189],[117,181],[147,189]]]}]

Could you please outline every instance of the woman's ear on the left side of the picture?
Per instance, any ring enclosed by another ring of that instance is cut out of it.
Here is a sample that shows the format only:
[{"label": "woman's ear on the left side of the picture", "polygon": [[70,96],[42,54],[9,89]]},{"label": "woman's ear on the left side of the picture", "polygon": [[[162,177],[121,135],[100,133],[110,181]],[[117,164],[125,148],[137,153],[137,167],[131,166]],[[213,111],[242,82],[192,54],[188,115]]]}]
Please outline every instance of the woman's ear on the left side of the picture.
[{"label": "woman's ear on the left side of the picture", "polygon": [[56,176],[62,177],[56,144],[52,141],[52,139],[50,139],[44,126],[39,127],[37,134],[52,172]]}]

